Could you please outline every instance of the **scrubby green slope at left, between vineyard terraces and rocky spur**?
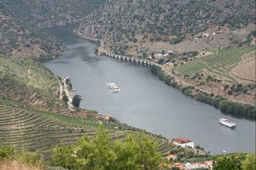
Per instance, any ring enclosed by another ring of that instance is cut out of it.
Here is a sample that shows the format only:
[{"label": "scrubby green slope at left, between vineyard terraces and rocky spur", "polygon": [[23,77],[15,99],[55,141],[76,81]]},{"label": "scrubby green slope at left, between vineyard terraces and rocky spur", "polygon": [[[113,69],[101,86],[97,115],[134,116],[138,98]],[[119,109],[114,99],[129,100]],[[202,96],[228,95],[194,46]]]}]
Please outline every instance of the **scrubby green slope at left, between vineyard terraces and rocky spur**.
[{"label": "scrubby green slope at left, between vineyard terraces and rocky spur", "polygon": [[62,105],[54,74],[31,59],[0,55],[0,96],[36,106]]}]

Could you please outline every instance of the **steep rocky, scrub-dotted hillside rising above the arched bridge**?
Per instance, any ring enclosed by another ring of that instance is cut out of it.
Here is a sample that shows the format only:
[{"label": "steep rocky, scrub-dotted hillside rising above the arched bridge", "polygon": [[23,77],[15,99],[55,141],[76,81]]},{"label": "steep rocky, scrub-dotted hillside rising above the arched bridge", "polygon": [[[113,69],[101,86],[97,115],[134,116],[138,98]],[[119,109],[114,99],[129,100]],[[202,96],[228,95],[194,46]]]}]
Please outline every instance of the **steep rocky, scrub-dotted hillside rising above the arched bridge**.
[{"label": "steep rocky, scrub-dotted hillside rising above the arched bridge", "polygon": [[86,17],[77,32],[104,39],[109,50],[136,52],[153,42],[177,44],[205,31],[255,24],[255,1],[108,0]]}]

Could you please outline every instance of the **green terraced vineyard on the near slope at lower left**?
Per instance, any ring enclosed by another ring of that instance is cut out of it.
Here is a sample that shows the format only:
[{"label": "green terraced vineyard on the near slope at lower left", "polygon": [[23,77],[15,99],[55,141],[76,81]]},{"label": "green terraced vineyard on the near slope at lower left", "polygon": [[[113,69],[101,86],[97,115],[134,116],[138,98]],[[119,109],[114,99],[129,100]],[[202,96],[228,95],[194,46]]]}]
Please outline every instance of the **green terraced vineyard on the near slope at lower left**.
[{"label": "green terraced vineyard on the near slope at lower left", "polygon": [[[15,145],[18,149],[44,152],[60,145],[61,141],[72,144],[83,134],[92,138],[100,124],[113,139],[123,139],[130,132],[137,133],[116,129],[113,125],[92,118],[0,105],[0,143]],[[165,139],[157,140],[161,153],[168,153],[174,148]]]}]

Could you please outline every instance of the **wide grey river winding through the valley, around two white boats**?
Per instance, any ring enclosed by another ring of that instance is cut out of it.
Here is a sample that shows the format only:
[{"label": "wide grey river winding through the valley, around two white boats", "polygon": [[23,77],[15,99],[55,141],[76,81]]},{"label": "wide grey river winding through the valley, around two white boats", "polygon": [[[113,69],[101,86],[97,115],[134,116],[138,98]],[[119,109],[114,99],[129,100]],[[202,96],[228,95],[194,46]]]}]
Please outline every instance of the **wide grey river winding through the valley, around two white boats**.
[{"label": "wide grey river winding through the valley, around two white boats", "polygon": [[[184,96],[151,74],[147,66],[96,56],[95,43],[78,38],[72,29],[74,25],[45,30],[66,48],[63,56],[42,64],[60,76],[70,76],[77,90],[74,94],[83,96],[82,108],[166,138],[191,139],[214,154],[255,150],[255,122],[224,115],[213,106]],[[106,85],[111,81],[122,90],[111,92]],[[219,118],[236,122],[237,128],[219,124]]]}]

